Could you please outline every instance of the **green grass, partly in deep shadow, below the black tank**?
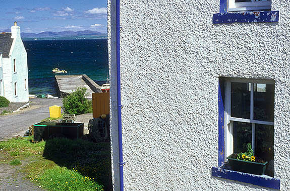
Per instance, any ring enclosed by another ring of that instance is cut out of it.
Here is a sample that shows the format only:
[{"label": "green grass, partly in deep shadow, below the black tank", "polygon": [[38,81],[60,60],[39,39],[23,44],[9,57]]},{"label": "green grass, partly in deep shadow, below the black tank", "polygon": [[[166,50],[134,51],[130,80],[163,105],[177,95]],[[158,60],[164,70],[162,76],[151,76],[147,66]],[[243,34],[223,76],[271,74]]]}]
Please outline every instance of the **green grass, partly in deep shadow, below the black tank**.
[{"label": "green grass, partly in deep shadow, below the black tank", "polygon": [[66,138],[31,143],[21,137],[0,141],[1,149],[0,163],[29,160],[21,171],[47,190],[112,190],[109,143]]}]

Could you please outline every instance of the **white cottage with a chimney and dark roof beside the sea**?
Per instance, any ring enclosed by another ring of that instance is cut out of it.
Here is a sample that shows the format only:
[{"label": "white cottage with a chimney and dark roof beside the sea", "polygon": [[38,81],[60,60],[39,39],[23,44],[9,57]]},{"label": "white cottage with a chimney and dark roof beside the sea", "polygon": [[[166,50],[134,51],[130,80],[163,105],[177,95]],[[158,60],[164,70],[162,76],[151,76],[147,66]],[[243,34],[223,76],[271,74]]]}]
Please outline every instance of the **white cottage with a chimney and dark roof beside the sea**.
[{"label": "white cottage with a chimney and dark roof beside the sea", "polygon": [[11,33],[0,33],[0,52],[3,58],[2,92],[10,102],[28,102],[27,53],[20,36],[20,27],[11,27]]}]

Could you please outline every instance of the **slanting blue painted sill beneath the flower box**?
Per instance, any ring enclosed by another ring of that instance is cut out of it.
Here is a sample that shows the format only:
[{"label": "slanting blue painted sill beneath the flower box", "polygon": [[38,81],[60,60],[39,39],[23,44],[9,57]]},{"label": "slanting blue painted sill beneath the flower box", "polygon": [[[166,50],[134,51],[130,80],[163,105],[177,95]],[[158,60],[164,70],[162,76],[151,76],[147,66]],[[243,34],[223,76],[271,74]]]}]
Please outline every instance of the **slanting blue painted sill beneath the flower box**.
[{"label": "slanting blue painted sill beneath the flower box", "polygon": [[280,180],[277,178],[272,178],[270,176],[248,174],[216,167],[211,168],[211,175],[219,178],[237,180],[240,182],[251,183],[254,185],[280,189]]}]

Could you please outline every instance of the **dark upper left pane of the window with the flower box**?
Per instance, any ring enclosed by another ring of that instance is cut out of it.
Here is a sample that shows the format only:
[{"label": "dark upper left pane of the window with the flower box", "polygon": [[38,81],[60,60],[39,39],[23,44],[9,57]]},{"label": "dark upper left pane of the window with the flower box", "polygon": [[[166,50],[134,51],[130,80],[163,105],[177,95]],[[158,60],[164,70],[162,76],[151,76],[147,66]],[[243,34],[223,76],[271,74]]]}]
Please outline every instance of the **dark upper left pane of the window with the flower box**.
[{"label": "dark upper left pane of the window with the flower box", "polygon": [[231,117],[250,119],[251,86],[231,82]]}]

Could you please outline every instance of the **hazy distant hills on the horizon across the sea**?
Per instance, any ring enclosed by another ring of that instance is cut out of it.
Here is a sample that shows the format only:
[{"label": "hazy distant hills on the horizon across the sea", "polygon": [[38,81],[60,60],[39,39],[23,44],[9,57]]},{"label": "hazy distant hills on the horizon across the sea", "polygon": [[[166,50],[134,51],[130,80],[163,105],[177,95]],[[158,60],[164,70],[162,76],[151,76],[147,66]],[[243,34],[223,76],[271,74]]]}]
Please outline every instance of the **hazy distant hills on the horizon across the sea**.
[{"label": "hazy distant hills on the horizon across the sea", "polygon": [[42,33],[21,33],[21,37],[23,39],[29,39],[29,38],[53,38],[53,39],[64,39],[66,37],[76,38],[76,37],[88,37],[88,38],[104,38],[106,37],[106,33],[100,33],[97,31],[90,31],[90,30],[84,30],[84,31],[62,31],[62,32],[52,32],[52,31],[45,31]]}]

